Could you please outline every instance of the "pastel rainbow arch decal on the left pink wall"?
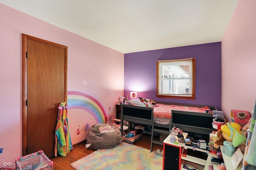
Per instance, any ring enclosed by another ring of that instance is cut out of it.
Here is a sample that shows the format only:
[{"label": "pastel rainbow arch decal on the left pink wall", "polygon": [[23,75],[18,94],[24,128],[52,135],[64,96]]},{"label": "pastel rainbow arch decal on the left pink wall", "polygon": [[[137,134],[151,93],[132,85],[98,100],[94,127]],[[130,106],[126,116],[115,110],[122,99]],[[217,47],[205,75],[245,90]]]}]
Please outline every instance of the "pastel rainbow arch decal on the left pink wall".
[{"label": "pastel rainbow arch decal on the left pink wall", "polygon": [[68,92],[68,109],[82,109],[90,113],[97,123],[106,122],[106,113],[100,102],[82,92]]}]

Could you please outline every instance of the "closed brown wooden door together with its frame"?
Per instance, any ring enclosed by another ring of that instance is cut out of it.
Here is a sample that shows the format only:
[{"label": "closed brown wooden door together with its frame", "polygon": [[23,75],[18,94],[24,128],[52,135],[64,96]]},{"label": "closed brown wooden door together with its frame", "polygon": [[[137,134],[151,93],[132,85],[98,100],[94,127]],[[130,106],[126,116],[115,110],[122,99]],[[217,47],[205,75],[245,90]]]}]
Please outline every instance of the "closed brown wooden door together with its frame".
[{"label": "closed brown wooden door together with its frame", "polygon": [[22,34],[22,154],[54,156],[58,105],[67,101],[67,47]]}]

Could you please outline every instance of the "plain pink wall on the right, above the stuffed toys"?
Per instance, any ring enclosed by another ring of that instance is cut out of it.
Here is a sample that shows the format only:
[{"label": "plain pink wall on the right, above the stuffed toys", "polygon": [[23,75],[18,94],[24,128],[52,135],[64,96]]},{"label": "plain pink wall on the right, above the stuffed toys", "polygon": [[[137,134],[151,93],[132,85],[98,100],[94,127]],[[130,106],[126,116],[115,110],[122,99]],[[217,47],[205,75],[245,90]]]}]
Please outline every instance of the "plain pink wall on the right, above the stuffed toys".
[{"label": "plain pink wall on the right, above the stuffed toys", "polygon": [[256,1],[239,0],[222,39],[222,110],[252,113],[256,99]]}]

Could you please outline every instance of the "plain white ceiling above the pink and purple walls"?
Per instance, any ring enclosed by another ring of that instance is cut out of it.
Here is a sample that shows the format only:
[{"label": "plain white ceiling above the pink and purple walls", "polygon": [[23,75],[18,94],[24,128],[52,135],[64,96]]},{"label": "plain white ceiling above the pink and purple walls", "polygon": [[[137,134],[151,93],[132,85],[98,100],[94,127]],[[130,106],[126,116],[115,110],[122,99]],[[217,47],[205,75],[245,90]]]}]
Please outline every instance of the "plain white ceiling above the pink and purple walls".
[{"label": "plain white ceiling above the pink and purple walls", "polygon": [[0,0],[82,37],[132,53],[222,41],[238,0]]}]

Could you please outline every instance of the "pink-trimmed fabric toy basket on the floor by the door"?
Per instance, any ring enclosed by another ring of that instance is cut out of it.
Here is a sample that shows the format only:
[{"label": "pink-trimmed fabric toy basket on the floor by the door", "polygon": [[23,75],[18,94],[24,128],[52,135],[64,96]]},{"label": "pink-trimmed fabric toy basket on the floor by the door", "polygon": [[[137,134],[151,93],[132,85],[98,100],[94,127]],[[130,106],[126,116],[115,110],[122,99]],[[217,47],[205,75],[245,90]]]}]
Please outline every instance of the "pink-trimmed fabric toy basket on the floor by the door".
[{"label": "pink-trimmed fabric toy basket on the floor by the door", "polygon": [[42,150],[15,160],[16,170],[52,170],[53,162]]}]

